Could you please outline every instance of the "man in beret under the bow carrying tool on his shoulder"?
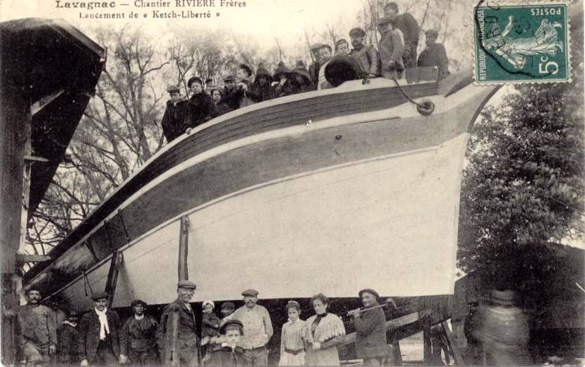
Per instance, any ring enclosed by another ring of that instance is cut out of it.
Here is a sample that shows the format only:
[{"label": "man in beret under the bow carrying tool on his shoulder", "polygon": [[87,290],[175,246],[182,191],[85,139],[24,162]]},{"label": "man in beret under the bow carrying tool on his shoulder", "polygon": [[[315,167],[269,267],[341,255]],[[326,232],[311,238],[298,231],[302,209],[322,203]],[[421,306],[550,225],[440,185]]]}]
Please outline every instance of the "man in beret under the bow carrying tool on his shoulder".
[{"label": "man in beret under the bow carrying tool on his shoulder", "polygon": [[388,354],[386,340],[386,318],[379,306],[378,292],[373,289],[362,289],[359,296],[363,308],[351,311],[356,327],[356,354],[363,359],[363,366],[381,366]]}]

